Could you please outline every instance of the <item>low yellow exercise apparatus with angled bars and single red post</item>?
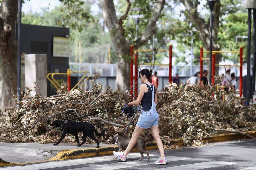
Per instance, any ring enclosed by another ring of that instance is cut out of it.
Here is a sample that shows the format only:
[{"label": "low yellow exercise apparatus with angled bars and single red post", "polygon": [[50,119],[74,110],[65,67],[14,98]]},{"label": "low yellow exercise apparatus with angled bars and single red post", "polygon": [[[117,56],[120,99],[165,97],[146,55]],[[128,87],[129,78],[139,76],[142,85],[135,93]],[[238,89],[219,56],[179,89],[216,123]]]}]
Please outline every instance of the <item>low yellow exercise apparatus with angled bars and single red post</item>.
[{"label": "low yellow exercise apparatus with angled bars and single red post", "polygon": [[[71,89],[71,73],[84,73],[84,76],[77,82],[77,84],[72,89]],[[80,85],[80,86],[82,86],[91,76],[89,71],[71,71],[70,69],[68,69],[66,73],[48,73],[47,79],[52,83],[52,85],[57,90],[59,90],[61,85],[56,81],[56,79],[54,78],[54,75],[67,75],[67,82],[68,82],[67,91],[69,92],[69,91],[73,91],[79,85],[79,83],[81,83],[81,81],[86,77],[86,73],[89,73],[89,75],[84,80],[84,82]],[[51,75],[52,80],[49,77],[50,75]]]}]

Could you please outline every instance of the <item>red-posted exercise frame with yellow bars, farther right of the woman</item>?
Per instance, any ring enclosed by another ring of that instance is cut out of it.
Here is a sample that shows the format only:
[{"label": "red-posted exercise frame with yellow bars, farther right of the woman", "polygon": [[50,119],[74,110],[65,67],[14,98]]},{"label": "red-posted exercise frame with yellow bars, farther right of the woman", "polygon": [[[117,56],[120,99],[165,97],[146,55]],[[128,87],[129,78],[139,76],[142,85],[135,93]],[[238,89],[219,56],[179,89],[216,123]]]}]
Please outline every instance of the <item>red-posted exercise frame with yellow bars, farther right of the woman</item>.
[{"label": "red-posted exercise frame with yellow bars, farther right of the woman", "polygon": [[[203,76],[203,60],[209,60],[210,58],[203,58],[203,53],[209,53],[210,51],[204,51],[203,47],[200,48],[200,82]],[[240,77],[239,77],[239,94],[242,97],[243,92],[243,47],[240,47],[239,51],[212,51],[212,84],[214,84],[214,76],[215,76],[215,66],[232,66],[232,67],[240,67]],[[215,64],[215,56],[216,53],[239,53],[240,57],[240,65],[220,65]]]}]

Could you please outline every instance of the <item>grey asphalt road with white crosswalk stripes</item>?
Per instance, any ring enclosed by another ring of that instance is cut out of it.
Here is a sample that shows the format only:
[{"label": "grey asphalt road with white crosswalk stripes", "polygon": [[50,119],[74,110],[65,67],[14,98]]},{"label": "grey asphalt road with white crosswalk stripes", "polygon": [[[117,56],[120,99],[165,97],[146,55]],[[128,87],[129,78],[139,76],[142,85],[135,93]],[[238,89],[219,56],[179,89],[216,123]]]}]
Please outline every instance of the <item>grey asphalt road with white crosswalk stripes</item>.
[{"label": "grey asphalt road with white crosswalk stripes", "polygon": [[54,161],[28,166],[6,167],[0,170],[256,170],[256,140],[236,140],[211,143],[203,147],[182,147],[165,150],[167,165],[155,165],[158,150],[150,150],[150,160],[141,162],[139,153],[131,153],[125,162],[113,160],[114,156],[102,156],[65,161]]}]

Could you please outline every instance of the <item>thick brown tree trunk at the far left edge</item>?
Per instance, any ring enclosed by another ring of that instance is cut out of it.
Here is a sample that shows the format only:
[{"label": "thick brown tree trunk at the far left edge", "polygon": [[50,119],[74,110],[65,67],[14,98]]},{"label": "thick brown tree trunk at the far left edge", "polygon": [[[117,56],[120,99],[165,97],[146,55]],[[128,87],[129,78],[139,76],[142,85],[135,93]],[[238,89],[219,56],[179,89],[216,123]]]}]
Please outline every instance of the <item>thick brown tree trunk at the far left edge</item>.
[{"label": "thick brown tree trunk at the far left edge", "polygon": [[0,108],[15,106],[17,93],[17,0],[3,0],[0,7]]}]

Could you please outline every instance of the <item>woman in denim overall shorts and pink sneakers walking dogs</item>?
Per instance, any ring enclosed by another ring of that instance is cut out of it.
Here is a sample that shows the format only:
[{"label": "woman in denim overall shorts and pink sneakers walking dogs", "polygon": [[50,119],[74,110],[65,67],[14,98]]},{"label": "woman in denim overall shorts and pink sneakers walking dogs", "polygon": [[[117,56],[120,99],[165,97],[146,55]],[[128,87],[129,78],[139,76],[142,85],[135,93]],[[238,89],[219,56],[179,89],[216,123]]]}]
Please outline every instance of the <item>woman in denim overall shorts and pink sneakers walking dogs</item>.
[{"label": "woman in denim overall shorts and pink sneakers walking dogs", "polygon": [[152,136],[154,137],[157,147],[160,151],[160,158],[154,162],[155,164],[166,164],[167,159],[164,156],[164,147],[163,143],[159,136],[159,129],[158,129],[158,120],[159,115],[156,112],[156,104],[157,104],[157,93],[155,86],[149,82],[150,76],[152,74],[152,70],[142,69],[139,72],[139,77],[141,82],[143,83],[140,86],[140,92],[137,99],[133,102],[128,103],[128,106],[132,105],[139,105],[141,103],[142,109],[139,120],[137,125],[132,133],[132,138],[124,152],[113,152],[114,155],[125,161],[127,158],[128,153],[131,151],[135,143],[137,142],[138,137],[140,136],[141,132],[146,129],[150,128]]}]

